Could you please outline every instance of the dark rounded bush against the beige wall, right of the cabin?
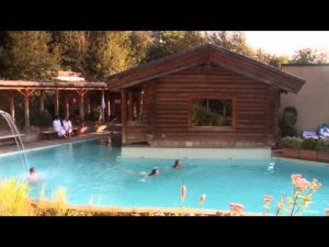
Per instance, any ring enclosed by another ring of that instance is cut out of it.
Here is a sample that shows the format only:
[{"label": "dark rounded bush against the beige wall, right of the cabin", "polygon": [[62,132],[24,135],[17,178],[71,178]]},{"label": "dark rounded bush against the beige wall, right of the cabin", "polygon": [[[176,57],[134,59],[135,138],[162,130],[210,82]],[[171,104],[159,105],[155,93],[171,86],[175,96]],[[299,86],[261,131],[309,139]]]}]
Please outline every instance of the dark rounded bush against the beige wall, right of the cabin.
[{"label": "dark rounded bush against the beige wall, right of the cabin", "polygon": [[297,130],[295,124],[297,122],[297,110],[293,106],[287,106],[284,109],[280,116],[280,132],[281,136],[297,136]]}]

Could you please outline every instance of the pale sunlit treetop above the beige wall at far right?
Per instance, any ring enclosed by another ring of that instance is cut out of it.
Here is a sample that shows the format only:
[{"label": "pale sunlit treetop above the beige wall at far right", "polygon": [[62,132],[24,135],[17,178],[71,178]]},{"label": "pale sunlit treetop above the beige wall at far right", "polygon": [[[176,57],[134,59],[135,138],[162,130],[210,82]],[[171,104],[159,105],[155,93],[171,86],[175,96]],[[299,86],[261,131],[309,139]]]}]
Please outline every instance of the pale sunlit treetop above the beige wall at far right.
[{"label": "pale sunlit treetop above the beige wall at far right", "polygon": [[320,64],[328,60],[328,55],[326,53],[319,53],[314,48],[303,48],[295,52],[292,64]]}]

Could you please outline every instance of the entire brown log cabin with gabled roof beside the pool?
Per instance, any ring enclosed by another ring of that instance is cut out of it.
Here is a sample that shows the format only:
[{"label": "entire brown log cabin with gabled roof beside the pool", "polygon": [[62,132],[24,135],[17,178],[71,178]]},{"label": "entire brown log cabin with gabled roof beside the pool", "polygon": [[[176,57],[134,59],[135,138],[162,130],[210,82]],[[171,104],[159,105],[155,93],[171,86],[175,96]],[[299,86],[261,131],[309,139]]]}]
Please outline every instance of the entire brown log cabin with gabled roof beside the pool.
[{"label": "entire brown log cabin with gabled roof beside the pool", "polygon": [[121,92],[123,145],[260,147],[277,137],[280,94],[304,79],[215,45],[109,78]]}]

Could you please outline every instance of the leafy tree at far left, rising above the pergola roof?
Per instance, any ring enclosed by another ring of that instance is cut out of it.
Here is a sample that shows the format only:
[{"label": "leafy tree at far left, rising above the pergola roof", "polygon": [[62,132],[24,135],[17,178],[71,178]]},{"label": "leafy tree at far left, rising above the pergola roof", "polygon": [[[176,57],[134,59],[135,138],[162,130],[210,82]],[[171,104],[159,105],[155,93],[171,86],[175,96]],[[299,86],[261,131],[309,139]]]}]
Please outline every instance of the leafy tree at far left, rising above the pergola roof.
[{"label": "leafy tree at far left, rising above the pergola roof", "polygon": [[9,79],[50,79],[59,65],[52,35],[42,31],[8,32],[9,42],[1,52],[2,75]]}]

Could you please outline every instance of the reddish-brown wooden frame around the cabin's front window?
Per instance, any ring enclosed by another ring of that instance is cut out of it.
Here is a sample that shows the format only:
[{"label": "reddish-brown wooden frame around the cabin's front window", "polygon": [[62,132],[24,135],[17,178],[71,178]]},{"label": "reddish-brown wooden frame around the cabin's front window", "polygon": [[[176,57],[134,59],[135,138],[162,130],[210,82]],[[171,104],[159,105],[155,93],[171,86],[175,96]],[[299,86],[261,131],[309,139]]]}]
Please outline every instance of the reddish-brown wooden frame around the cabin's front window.
[{"label": "reddish-brown wooden frame around the cabin's front window", "polygon": [[[193,100],[231,100],[231,126],[192,126]],[[189,97],[189,131],[236,132],[236,100],[235,96],[195,94]]]}]

